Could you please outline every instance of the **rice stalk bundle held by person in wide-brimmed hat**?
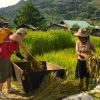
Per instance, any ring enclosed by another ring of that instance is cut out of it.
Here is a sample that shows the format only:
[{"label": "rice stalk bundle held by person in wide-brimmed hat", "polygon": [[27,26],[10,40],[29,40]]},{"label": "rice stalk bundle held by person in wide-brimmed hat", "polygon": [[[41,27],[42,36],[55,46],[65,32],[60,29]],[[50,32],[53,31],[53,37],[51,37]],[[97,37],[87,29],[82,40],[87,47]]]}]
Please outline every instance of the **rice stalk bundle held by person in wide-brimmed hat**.
[{"label": "rice stalk bundle held by person in wide-brimmed hat", "polygon": [[98,78],[100,75],[100,58],[97,54],[92,54],[88,56],[87,60],[87,68],[91,75],[91,77]]}]

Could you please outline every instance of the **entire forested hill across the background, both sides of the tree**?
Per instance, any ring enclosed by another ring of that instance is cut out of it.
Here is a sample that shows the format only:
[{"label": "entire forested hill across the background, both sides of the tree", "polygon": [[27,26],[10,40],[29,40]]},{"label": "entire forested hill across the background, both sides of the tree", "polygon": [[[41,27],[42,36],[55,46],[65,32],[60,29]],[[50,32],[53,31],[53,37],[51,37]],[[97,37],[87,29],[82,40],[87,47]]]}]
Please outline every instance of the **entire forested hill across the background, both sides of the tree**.
[{"label": "entire forested hill across the background, both sides of the tree", "polygon": [[63,19],[92,21],[92,24],[100,22],[99,0],[20,0],[13,6],[1,8],[0,15],[13,23],[20,8],[28,1],[39,9],[48,25],[59,23]]}]

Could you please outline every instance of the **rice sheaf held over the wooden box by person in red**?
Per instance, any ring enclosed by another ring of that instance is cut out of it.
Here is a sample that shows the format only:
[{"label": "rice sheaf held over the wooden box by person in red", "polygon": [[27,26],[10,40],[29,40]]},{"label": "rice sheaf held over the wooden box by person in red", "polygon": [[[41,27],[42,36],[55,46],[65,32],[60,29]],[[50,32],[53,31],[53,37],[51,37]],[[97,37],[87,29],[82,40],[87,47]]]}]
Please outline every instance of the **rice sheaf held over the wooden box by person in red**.
[{"label": "rice sheaf held over the wooden box by person in red", "polygon": [[41,71],[43,69],[43,66],[41,65],[41,63],[35,60],[34,57],[28,55],[27,61],[30,63],[33,71]]}]

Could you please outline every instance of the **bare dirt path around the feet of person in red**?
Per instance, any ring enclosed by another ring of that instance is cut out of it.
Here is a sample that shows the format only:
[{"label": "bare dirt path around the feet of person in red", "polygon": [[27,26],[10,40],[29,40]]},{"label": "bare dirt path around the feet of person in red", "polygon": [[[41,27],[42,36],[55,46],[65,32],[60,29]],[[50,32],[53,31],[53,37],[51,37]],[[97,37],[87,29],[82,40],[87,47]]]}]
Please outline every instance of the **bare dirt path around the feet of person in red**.
[{"label": "bare dirt path around the feet of person in red", "polygon": [[[30,100],[30,96],[25,94],[22,89],[20,89],[20,91],[18,93],[16,93],[16,94],[8,94],[6,87],[7,86],[6,86],[6,83],[5,83],[4,86],[3,86],[3,92],[9,98],[7,100]],[[14,87],[15,89],[19,89],[14,84],[12,84],[12,87]],[[0,99],[0,100],[2,100],[2,99]]]}]

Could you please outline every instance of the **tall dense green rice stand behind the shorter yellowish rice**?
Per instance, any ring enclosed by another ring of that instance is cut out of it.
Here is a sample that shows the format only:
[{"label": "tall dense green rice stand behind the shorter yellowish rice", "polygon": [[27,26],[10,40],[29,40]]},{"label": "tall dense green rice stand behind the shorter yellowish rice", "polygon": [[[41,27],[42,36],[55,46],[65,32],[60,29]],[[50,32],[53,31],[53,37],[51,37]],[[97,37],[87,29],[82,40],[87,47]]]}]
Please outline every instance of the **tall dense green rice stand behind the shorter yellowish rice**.
[{"label": "tall dense green rice stand behind the shorter yellowish rice", "polygon": [[75,45],[72,40],[72,35],[68,31],[62,30],[47,32],[29,31],[24,42],[33,55],[70,48]]}]

